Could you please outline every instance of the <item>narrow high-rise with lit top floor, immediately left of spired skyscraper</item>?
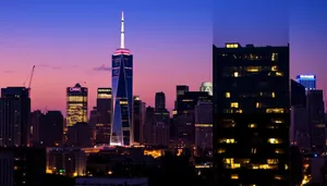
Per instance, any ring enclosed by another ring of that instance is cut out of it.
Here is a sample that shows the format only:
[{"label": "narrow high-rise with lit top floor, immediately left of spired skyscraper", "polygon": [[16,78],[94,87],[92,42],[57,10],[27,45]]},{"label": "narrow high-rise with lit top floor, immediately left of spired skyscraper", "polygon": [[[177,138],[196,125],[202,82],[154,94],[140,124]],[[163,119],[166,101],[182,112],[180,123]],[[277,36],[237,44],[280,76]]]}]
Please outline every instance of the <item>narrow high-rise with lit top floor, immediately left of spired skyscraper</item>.
[{"label": "narrow high-rise with lit top floor, immediately left of spired skyscraper", "polygon": [[96,123],[97,142],[110,144],[110,128],[111,128],[111,88],[98,88],[97,96],[97,112],[99,114]]}]

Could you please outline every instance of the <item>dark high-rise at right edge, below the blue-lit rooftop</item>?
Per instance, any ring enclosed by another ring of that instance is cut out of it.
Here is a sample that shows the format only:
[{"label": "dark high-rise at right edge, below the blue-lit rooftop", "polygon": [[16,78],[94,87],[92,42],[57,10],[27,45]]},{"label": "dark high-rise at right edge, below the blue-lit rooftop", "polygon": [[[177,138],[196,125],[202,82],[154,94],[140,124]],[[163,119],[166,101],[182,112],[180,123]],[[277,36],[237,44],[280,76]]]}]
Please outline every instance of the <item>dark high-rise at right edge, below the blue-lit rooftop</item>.
[{"label": "dark high-rise at right edge, below the blue-lit rooftop", "polygon": [[323,152],[326,149],[326,121],[323,90],[308,90],[306,95],[308,129],[312,150]]}]

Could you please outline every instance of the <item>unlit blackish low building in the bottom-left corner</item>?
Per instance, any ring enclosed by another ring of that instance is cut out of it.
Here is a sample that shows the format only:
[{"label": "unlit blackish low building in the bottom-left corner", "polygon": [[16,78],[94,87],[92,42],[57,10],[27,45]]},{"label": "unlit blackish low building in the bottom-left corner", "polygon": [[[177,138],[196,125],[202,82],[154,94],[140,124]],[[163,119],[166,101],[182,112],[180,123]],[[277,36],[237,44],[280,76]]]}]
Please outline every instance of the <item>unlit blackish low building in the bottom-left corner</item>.
[{"label": "unlit blackish low building in the bottom-left corner", "polygon": [[32,147],[0,148],[1,186],[44,186],[46,149]]}]

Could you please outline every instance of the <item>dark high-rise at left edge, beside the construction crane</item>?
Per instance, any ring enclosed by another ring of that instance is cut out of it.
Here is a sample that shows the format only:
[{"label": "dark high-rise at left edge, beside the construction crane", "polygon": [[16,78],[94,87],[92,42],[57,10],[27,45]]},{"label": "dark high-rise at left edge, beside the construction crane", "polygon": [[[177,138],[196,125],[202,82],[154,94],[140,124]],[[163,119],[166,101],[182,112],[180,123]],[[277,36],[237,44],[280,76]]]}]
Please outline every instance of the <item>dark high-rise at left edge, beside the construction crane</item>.
[{"label": "dark high-rise at left edge, beside the construction crane", "polygon": [[31,99],[28,88],[1,88],[0,146],[29,145]]}]

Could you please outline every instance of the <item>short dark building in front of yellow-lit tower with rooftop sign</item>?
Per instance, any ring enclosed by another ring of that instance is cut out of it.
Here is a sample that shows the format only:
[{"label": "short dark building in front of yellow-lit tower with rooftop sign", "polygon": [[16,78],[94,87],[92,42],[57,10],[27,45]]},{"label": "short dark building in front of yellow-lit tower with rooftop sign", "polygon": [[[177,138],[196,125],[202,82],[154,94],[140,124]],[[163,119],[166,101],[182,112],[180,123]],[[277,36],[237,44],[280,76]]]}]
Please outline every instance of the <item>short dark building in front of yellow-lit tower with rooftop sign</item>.
[{"label": "short dark building in front of yellow-lit tower with rooftop sign", "polygon": [[78,122],[68,129],[68,145],[71,147],[93,147],[95,145],[95,131],[87,123]]}]

